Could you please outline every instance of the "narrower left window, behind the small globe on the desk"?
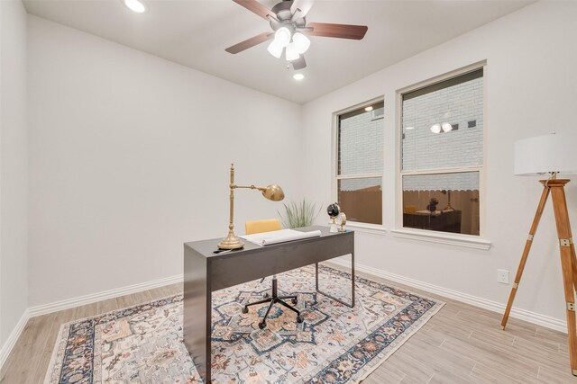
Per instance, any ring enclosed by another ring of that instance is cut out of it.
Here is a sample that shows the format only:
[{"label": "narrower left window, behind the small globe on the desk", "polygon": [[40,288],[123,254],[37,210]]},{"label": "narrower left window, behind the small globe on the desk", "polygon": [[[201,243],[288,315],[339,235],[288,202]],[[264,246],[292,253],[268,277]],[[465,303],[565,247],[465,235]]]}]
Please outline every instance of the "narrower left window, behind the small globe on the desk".
[{"label": "narrower left window, behind the small globe on the desk", "polygon": [[382,224],[384,103],[337,115],[336,199],[348,221]]}]

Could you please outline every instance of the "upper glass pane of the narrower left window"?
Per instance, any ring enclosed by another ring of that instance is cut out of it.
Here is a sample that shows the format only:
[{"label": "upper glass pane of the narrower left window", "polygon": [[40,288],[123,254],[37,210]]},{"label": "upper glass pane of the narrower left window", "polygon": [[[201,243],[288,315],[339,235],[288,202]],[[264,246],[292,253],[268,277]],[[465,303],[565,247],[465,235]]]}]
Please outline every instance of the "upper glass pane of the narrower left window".
[{"label": "upper glass pane of the narrower left window", "polygon": [[337,174],[380,174],[383,167],[383,103],[339,116]]}]

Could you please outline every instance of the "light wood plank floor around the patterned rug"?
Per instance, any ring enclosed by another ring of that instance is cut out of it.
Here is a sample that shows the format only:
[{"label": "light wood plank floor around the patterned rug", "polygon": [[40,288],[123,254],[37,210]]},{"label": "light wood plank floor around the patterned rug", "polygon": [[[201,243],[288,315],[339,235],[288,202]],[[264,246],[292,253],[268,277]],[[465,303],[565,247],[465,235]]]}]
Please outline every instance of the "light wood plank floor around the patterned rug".
[{"label": "light wood plank floor around the patterned rug", "polygon": [[[577,383],[566,335],[515,318],[502,331],[500,314],[390,285],[446,305],[363,383]],[[41,383],[62,323],[181,292],[181,284],[169,285],[32,317],[0,371],[0,383]]]}]

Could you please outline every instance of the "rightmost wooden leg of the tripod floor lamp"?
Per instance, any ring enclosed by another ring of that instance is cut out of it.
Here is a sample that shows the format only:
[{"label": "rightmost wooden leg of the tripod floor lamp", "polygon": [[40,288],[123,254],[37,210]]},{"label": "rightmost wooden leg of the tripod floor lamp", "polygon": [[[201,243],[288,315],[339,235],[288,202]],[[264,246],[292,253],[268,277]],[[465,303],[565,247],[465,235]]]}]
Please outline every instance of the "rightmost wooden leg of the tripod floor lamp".
[{"label": "rightmost wooden leg of the tripod floor lamp", "polygon": [[548,185],[551,188],[555,224],[559,237],[561,251],[561,268],[563,270],[563,288],[565,291],[565,312],[567,315],[567,335],[569,336],[569,360],[574,376],[577,376],[577,328],[575,327],[575,290],[574,290],[574,266],[575,248],[572,246],[571,224],[567,212],[564,185],[569,180],[551,180]]}]

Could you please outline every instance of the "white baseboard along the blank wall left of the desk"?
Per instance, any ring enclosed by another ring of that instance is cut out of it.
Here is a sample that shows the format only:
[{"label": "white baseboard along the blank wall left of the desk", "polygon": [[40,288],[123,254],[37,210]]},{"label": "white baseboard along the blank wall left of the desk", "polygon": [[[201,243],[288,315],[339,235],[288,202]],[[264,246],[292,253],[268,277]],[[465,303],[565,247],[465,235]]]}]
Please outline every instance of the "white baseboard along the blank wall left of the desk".
[{"label": "white baseboard along the blank wall left of the desk", "polygon": [[131,293],[140,292],[142,290],[152,290],[154,288],[163,287],[165,285],[176,284],[183,281],[183,275],[178,274],[175,276],[166,277],[163,279],[141,282],[138,284],[128,285],[126,287],[116,288],[114,290],[104,290],[102,292],[92,293],[85,296],[79,296],[78,298],[65,299],[60,301],[55,301],[49,304],[42,304],[40,306],[35,306],[28,308],[29,317],[37,317],[41,315],[46,315],[52,312],[58,312],[59,310],[74,308],[78,306],[83,306],[87,304],[96,303],[105,299],[114,299],[119,296],[130,295]]}]

